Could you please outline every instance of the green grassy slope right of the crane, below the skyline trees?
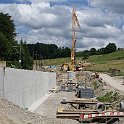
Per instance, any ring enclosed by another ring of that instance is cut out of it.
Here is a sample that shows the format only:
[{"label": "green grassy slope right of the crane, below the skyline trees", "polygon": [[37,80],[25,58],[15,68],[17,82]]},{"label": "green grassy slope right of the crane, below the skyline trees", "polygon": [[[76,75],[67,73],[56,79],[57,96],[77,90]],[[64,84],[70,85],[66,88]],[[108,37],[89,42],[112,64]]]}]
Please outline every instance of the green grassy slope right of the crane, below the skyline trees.
[{"label": "green grassy slope right of the crane, below the skyline trees", "polygon": [[121,73],[124,73],[124,51],[91,56],[87,61],[93,64],[89,70],[108,71],[109,68],[115,68],[121,70]]}]

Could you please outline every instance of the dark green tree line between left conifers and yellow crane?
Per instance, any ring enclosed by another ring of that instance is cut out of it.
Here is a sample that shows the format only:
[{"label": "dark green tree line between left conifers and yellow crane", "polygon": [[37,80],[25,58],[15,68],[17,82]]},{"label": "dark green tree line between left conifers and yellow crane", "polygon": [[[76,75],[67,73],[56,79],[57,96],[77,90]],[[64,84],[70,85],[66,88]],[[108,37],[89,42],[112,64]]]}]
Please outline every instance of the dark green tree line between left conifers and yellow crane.
[{"label": "dark green tree line between left conifers and yellow crane", "polygon": [[68,47],[58,47],[55,44],[27,44],[30,55],[34,59],[54,59],[61,57],[70,57],[71,50]]}]

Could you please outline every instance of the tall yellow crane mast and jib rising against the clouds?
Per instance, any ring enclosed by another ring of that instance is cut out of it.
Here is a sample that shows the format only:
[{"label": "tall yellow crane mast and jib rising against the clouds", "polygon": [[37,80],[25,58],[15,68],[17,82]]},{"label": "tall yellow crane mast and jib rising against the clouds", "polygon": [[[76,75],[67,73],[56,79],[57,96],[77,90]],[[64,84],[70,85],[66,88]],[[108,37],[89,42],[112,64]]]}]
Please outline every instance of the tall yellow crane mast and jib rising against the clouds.
[{"label": "tall yellow crane mast and jib rising against the clouds", "polygon": [[71,49],[71,70],[76,70],[76,61],[75,61],[75,46],[76,46],[76,26],[80,27],[76,9],[72,10],[72,49]]}]

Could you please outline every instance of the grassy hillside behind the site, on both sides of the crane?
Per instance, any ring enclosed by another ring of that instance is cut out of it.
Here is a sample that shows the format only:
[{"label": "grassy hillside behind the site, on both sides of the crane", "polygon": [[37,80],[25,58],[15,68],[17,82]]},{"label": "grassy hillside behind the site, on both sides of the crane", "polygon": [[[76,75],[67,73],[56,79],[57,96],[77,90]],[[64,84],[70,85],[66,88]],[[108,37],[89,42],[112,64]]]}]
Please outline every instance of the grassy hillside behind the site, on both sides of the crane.
[{"label": "grassy hillside behind the site, on both sides of the crane", "polygon": [[[77,61],[81,61],[81,57],[76,57]],[[42,60],[43,65],[59,65],[61,66],[64,63],[70,64],[70,57],[67,58],[57,58],[57,59],[46,59]],[[104,55],[94,55],[90,56],[87,60],[92,66],[88,68],[90,71],[100,71],[108,72],[110,68],[120,70],[119,75],[124,76],[124,51],[116,51],[110,54]]]}]

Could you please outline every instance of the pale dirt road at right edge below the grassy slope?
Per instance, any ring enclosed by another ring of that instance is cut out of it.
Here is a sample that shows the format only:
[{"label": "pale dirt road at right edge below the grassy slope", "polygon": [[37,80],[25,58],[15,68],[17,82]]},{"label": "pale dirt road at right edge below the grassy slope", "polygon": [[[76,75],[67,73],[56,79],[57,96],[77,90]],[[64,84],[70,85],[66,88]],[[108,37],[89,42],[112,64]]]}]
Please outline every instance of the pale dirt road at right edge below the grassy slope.
[{"label": "pale dirt road at right edge below the grassy slope", "polygon": [[107,74],[100,74],[100,78],[102,78],[104,82],[112,86],[114,89],[117,89],[124,93],[124,85],[122,79],[116,79]]}]

